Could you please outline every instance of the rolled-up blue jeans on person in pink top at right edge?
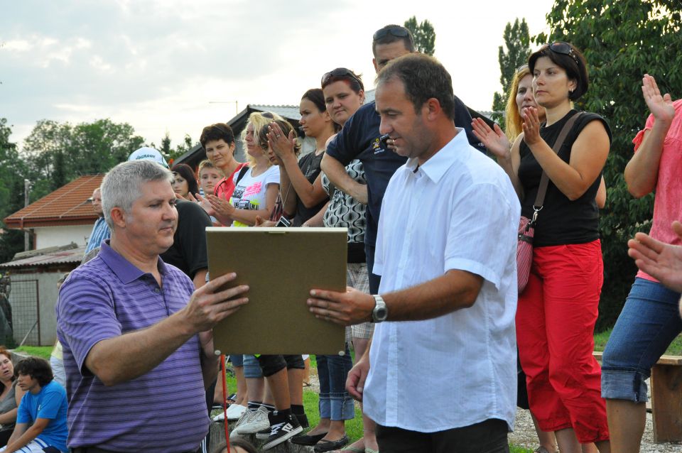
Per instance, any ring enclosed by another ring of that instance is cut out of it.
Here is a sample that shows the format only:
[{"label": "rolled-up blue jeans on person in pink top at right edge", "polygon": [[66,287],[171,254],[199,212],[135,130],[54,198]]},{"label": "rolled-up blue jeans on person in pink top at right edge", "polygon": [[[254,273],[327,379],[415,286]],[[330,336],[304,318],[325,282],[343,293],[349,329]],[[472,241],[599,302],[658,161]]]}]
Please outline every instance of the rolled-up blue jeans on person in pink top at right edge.
[{"label": "rolled-up blue jeans on person in pink top at right edge", "polygon": [[682,331],[680,293],[635,278],[602,358],[602,398],[646,402],[646,383]]}]

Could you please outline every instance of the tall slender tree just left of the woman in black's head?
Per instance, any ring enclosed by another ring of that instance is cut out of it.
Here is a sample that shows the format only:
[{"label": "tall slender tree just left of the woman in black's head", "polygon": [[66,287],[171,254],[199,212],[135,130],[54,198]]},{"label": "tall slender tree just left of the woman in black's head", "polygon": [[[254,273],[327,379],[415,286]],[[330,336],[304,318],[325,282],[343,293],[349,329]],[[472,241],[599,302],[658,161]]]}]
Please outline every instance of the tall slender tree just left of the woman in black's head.
[{"label": "tall slender tree just left of the woman in black's head", "polygon": [[492,119],[497,121],[502,129],[504,129],[504,109],[507,108],[507,94],[511,81],[514,80],[516,70],[521,65],[528,62],[528,57],[531,55],[531,37],[528,31],[528,24],[526,19],[522,18],[521,22],[517,18],[514,25],[507,22],[504,27],[504,51],[502,45],[497,48],[497,61],[499,61],[499,83],[502,84],[502,93],[495,92],[492,97]]}]

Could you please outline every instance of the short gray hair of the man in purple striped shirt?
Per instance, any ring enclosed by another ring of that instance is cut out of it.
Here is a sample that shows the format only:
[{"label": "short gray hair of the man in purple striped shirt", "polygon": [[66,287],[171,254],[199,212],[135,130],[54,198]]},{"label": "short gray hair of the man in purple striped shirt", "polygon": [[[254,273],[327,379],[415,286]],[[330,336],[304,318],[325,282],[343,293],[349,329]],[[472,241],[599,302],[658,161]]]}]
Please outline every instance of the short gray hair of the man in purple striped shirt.
[{"label": "short gray hair of the man in purple striped shirt", "polygon": [[109,229],[114,229],[112,209],[119,207],[129,213],[135,200],[140,197],[142,185],[150,181],[173,182],[173,173],[151,160],[131,160],[119,163],[104,175],[102,210]]}]

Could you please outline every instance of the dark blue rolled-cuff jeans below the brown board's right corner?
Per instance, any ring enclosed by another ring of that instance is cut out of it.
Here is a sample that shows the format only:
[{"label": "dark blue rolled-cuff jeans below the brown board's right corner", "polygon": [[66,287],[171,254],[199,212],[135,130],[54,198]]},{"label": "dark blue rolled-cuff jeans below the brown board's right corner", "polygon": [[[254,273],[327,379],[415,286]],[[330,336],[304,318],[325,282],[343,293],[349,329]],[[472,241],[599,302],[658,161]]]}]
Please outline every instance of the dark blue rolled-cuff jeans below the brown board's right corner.
[{"label": "dark blue rolled-cuff jeans below the brown board's right corner", "polygon": [[320,378],[320,418],[332,421],[350,420],[355,416],[353,400],[346,391],[346,378],[353,366],[346,346],[343,356],[315,356]]}]

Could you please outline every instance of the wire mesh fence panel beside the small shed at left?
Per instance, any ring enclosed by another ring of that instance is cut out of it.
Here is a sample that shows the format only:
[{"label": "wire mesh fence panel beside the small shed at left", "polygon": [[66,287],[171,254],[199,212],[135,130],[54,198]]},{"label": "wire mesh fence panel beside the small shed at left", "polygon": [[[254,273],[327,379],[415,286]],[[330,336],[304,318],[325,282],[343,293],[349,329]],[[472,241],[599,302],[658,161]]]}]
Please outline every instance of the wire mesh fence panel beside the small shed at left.
[{"label": "wire mesh fence panel beside the small shed at left", "polygon": [[9,303],[16,344],[43,346],[40,344],[38,280],[12,280]]}]

